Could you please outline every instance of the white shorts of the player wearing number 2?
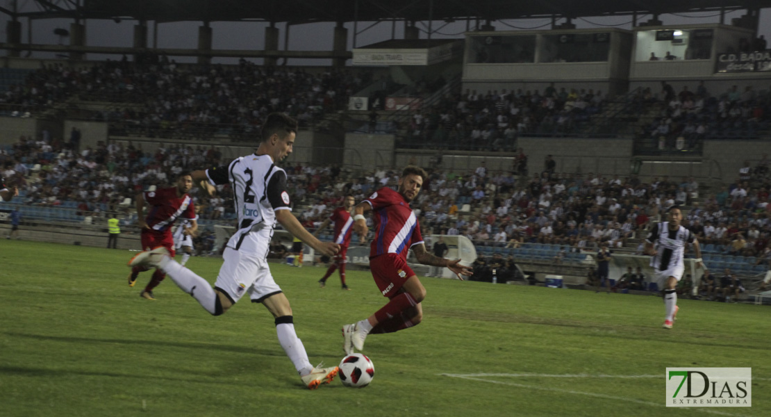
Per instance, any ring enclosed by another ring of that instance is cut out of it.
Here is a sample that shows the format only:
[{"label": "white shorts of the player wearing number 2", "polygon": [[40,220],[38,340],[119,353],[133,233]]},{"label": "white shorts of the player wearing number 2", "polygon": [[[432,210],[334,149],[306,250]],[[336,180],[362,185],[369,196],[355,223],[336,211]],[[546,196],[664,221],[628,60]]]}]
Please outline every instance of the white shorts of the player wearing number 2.
[{"label": "white shorts of the player wearing number 2", "polygon": [[217,274],[215,288],[224,291],[233,302],[248,293],[251,301],[261,302],[278,294],[281,287],[273,281],[273,275],[264,256],[236,251],[226,247],[222,254],[224,263]]}]

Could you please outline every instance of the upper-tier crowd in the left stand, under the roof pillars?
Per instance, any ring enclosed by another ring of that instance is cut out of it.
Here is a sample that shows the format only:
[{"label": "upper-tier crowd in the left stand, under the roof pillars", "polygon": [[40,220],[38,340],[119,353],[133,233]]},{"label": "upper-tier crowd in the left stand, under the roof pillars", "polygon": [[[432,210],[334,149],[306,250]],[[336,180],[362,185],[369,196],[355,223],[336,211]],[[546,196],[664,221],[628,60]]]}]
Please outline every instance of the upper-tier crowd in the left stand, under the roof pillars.
[{"label": "upper-tier crowd in the left stand, under the roof pillars", "polygon": [[79,68],[49,64],[31,72],[24,84],[0,92],[0,104],[25,112],[66,103],[70,97],[110,102],[110,109],[90,117],[115,123],[116,133],[165,137],[200,131],[210,139],[217,130],[206,126],[228,133],[259,132],[261,120],[272,112],[287,113],[308,126],[325,112],[345,108],[348,96],[371,78],[369,72],[330,69],[314,74],[243,59],[237,66],[178,65],[168,59],[108,60]]}]

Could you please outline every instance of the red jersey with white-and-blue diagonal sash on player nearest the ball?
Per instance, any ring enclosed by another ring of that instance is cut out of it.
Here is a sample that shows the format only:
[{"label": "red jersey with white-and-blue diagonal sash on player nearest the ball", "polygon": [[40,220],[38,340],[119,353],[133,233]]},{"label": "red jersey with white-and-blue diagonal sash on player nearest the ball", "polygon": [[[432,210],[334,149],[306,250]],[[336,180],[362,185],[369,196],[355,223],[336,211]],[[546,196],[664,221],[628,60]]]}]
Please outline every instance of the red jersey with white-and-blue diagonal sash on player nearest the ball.
[{"label": "red jersey with white-and-blue diagonal sash on player nearest the ball", "polygon": [[372,240],[369,257],[399,254],[406,260],[409,248],[423,243],[418,218],[407,200],[402,194],[382,187],[364,201],[372,206],[375,220],[375,240]]}]

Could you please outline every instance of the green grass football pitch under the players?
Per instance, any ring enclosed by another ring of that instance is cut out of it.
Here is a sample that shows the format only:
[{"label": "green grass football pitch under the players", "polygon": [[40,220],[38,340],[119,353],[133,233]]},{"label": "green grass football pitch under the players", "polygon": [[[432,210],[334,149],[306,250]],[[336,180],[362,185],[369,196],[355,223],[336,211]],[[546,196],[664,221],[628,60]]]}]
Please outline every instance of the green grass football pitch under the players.
[{"label": "green grass football pitch under the players", "polygon": [[[0,240],[0,415],[769,415],[769,307],[423,278],[424,321],[372,335],[367,388],[308,391],[261,305],[212,317],[167,278],[126,285],[127,251]],[[214,281],[221,260],[188,266]],[[321,267],[273,265],[311,362],[385,302]],[[752,367],[752,408],[665,408],[667,367]],[[455,376],[448,376],[451,374]]]}]

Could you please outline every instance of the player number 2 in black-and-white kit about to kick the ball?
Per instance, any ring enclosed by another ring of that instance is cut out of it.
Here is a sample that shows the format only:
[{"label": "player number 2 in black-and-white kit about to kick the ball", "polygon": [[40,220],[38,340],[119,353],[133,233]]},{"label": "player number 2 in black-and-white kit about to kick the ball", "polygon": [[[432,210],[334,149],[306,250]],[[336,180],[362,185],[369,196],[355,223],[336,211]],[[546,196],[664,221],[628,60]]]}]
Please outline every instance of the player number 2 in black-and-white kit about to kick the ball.
[{"label": "player number 2 in black-and-white kit about to kick the ball", "polygon": [[254,303],[262,303],[273,314],[278,341],[295,365],[302,382],[310,389],[332,381],[338,368],[316,367],[308,361],[302,341],[295,334],[292,310],[281,288],[268,268],[273,227],[278,220],[318,253],[333,256],[339,245],[322,243],[291,214],[287,175],[275,164],[291,153],[297,134],[297,121],[282,113],[268,115],[262,126],[261,142],[251,155],[241,156],[227,166],[195,171],[193,180],[207,193],[214,185],[230,183],[238,214],[237,230],[227,241],[224,263],[214,288],[193,271],[168,256],[165,248],[136,255],[130,265],[159,267],[182,291],[195,298],[206,311],[220,315],[244,294]]}]

